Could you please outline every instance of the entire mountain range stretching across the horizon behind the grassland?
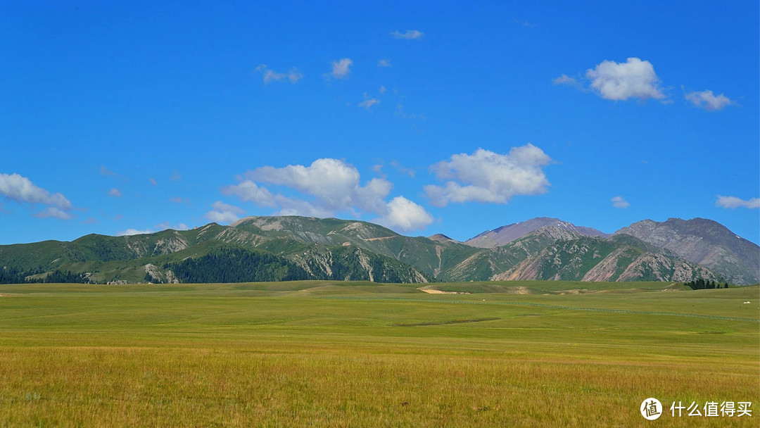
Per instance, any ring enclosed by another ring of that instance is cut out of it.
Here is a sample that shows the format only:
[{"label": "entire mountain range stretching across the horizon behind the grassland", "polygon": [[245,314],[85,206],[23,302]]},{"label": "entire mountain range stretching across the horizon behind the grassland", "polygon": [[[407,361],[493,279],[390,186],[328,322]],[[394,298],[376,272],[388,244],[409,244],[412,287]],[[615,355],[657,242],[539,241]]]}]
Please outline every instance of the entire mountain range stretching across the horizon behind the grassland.
[{"label": "entire mountain range stretching across the horizon behind the grassland", "polygon": [[760,247],[713,220],[643,220],[612,235],[548,217],[461,243],[359,220],[245,217],[230,226],[0,246],[0,282],[295,279],[676,281],[754,284]]}]

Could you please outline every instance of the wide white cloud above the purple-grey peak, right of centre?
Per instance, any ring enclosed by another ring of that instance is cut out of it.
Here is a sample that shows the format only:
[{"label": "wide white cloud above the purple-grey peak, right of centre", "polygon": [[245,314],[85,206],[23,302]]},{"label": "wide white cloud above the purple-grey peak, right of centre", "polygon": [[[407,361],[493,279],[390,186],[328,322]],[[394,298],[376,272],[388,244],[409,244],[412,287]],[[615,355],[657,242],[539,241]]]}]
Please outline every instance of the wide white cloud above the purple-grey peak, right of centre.
[{"label": "wide white cloud above the purple-grey peak, right of centre", "polygon": [[552,159],[533,144],[512,147],[509,154],[478,149],[475,153],[454,154],[431,166],[444,186],[426,185],[425,192],[435,206],[449,202],[492,202],[506,204],[514,195],[546,192],[549,181],[541,169]]}]

